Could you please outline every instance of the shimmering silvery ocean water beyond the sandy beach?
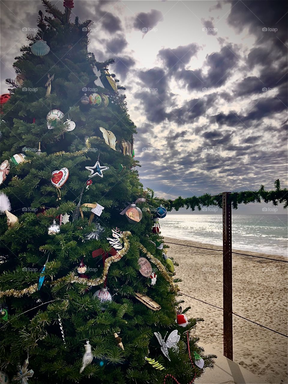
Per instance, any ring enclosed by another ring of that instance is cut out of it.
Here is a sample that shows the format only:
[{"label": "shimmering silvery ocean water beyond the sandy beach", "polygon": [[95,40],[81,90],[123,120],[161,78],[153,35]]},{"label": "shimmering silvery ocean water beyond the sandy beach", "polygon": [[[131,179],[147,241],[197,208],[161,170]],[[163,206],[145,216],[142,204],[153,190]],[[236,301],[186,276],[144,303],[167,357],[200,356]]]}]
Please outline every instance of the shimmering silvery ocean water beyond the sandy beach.
[{"label": "shimmering silvery ocean water beyond the sandy beach", "polygon": [[[287,218],[232,214],[233,248],[287,257]],[[159,223],[163,236],[222,246],[222,215],[168,214]]]}]

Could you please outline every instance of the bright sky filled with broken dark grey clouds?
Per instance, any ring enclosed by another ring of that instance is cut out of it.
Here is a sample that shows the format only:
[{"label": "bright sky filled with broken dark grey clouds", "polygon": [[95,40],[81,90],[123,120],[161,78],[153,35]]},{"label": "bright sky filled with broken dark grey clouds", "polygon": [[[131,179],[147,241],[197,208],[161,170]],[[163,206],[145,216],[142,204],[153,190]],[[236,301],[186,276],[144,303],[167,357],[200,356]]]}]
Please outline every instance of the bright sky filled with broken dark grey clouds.
[{"label": "bright sky filled with broken dark grey clouds", "polygon": [[[43,7],[0,6],[4,93]],[[174,198],[286,186],[286,1],[76,0],[73,13],[94,20],[97,60],[115,58],[144,187]]]}]

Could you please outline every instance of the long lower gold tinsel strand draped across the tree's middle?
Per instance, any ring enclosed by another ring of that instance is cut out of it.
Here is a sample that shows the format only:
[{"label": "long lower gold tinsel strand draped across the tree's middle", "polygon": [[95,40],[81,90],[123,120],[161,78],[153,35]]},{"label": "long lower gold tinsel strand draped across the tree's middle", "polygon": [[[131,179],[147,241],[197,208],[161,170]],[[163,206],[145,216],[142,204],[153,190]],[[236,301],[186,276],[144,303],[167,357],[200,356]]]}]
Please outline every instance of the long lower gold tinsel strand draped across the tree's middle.
[{"label": "long lower gold tinsel strand draped across the tree's middle", "polygon": [[[128,252],[130,248],[130,243],[129,243],[129,236],[131,236],[131,232],[126,231],[122,233],[123,236],[123,241],[124,241],[124,247],[117,252],[117,255],[110,256],[105,260],[104,263],[104,269],[103,269],[103,274],[101,277],[95,278],[95,279],[84,279],[80,278],[78,276],[75,276],[74,274],[70,274],[65,277],[61,277],[57,280],[54,281],[44,281],[43,285],[57,285],[62,282],[66,283],[82,283],[86,286],[98,286],[102,283],[104,283],[106,276],[108,275],[108,270],[109,267],[112,263],[118,262],[126,253]],[[162,273],[163,277],[165,278],[166,281],[171,285],[172,290],[177,293],[179,291],[178,286],[174,283],[173,278],[169,275],[167,272],[166,268],[162,263],[153,255],[151,255],[150,252],[147,251],[145,247],[139,242],[136,242],[136,246],[138,249],[140,249],[143,253],[146,254],[146,256],[151,260],[152,263],[154,263],[159,271]],[[14,296],[14,297],[21,297],[25,294],[31,294],[36,292],[38,289],[38,283],[30,285],[28,288],[24,288],[23,290],[15,290],[15,289],[10,289],[7,291],[0,291],[0,298],[3,296]]]}]

